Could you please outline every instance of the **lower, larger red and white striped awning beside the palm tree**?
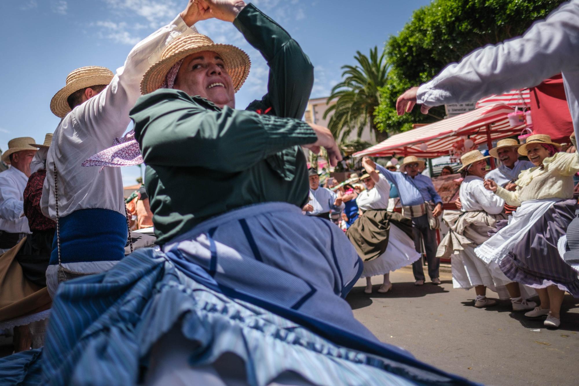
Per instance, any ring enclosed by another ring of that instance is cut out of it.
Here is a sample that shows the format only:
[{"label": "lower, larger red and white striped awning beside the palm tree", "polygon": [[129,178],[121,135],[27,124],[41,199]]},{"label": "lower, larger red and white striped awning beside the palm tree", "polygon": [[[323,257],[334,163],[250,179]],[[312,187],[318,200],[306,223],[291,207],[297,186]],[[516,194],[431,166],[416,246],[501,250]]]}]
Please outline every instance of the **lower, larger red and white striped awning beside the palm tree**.
[{"label": "lower, larger red and white striped awning beside the palm tree", "polygon": [[[354,153],[354,157],[375,156],[389,157],[394,153],[398,156],[417,156],[434,158],[449,154],[457,137],[468,135],[475,144],[487,142],[487,126],[490,125],[490,138],[496,139],[521,134],[525,127],[511,127],[507,114],[514,108],[505,104],[486,106],[448,119],[439,120],[426,126],[417,127],[373,145],[361,152]],[[420,149],[423,144],[426,150]]]}]

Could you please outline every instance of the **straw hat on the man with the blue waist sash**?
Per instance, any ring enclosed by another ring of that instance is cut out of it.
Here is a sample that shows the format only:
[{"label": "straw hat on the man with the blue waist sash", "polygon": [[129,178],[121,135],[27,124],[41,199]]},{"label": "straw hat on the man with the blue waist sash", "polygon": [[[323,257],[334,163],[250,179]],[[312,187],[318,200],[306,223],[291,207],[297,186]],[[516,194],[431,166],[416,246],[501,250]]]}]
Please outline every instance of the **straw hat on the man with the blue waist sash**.
[{"label": "straw hat on the man with the blue waist sash", "polygon": [[67,99],[78,90],[85,87],[97,86],[97,84],[109,84],[115,74],[105,67],[91,65],[80,67],[72,71],[67,76],[66,86],[58,90],[50,101],[50,110],[59,118],[64,117],[71,111]]}]

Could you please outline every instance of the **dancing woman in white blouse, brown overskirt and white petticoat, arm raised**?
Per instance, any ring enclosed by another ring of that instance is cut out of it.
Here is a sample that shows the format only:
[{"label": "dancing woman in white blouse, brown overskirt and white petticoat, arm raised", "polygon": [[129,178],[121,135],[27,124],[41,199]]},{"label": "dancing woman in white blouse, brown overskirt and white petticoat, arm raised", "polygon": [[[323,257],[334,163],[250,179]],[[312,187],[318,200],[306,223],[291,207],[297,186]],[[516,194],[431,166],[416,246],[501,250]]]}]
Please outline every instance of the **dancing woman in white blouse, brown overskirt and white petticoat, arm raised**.
[{"label": "dancing woman in white blouse, brown overskirt and white petticoat, arm raised", "polygon": [[366,278],[365,293],[372,293],[372,276],[383,275],[378,292],[391,291],[390,271],[395,271],[420,259],[416,252],[412,221],[387,211],[390,185],[384,175],[378,174],[373,161],[364,163],[366,174],[360,179],[366,190],[358,194],[356,203],[362,211],[360,218],[346,234],[358,256],[364,260],[361,277]]}]

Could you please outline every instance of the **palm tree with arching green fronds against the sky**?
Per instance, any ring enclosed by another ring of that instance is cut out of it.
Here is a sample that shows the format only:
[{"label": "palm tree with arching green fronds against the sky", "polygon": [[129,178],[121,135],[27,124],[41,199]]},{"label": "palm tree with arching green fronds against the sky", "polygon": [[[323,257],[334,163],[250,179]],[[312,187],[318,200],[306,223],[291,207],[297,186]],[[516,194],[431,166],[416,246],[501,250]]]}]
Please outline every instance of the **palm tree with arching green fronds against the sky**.
[{"label": "palm tree with arching green fronds against the sky", "polygon": [[337,98],[336,103],[324,113],[324,119],[330,112],[334,115],[329,120],[328,128],[336,139],[343,141],[356,129],[360,138],[364,126],[370,122],[370,128],[378,142],[388,138],[388,134],[379,131],[374,123],[374,110],[380,102],[379,88],[386,85],[389,65],[385,53],[378,56],[378,47],[370,49],[370,58],[356,52],[354,59],[358,65],[342,66],[342,82],[336,84],[328,97],[328,104]]}]

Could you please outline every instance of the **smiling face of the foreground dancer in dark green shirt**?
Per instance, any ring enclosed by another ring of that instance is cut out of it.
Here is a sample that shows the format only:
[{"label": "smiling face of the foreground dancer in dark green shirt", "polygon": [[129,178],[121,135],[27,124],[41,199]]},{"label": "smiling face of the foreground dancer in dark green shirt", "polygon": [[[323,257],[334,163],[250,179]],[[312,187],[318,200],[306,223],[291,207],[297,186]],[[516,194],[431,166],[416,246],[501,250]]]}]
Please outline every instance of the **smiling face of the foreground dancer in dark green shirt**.
[{"label": "smiling face of the foreground dancer in dark green shirt", "polygon": [[219,54],[201,51],[185,57],[177,78],[175,89],[189,95],[199,95],[215,105],[235,107],[235,90],[231,77]]}]

